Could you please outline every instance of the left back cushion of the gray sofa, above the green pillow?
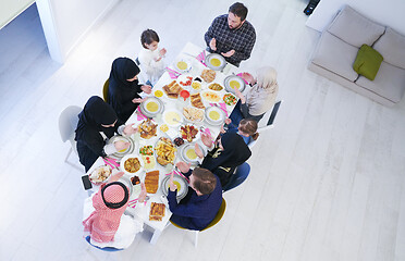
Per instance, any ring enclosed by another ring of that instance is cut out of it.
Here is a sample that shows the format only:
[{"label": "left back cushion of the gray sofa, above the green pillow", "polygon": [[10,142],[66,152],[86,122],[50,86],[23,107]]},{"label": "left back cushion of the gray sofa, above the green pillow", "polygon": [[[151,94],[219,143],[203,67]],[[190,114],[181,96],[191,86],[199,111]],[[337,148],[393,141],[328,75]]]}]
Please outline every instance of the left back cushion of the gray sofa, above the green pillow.
[{"label": "left back cushion of the gray sofa, above the green pillow", "polygon": [[358,48],[364,44],[372,46],[384,30],[384,26],[363,16],[348,5],[342,9],[328,28],[332,35]]}]

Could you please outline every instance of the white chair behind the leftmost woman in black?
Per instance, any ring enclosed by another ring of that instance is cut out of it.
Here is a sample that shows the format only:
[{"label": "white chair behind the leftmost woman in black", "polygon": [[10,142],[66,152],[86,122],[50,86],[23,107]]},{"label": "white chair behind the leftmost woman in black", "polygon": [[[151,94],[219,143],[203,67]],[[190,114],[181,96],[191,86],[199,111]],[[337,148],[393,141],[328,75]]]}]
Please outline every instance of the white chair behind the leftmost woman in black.
[{"label": "white chair behind the leftmost woman in black", "polygon": [[63,142],[66,142],[68,140],[71,142],[71,148],[69,149],[68,156],[64,159],[64,162],[76,167],[79,171],[83,171],[82,167],[78,167],[76,164],[69,162],[68,159],[71,156],[72,151],[78,156],[77,149],[76,149],[76,140],[74,140],[75,137],[75,129],[77,127],[78,123],[78,113],[81,113],[82,108],[77,105],[70,105],[65,108],[61,114],[59,115],[59,132],[62,138]]}]

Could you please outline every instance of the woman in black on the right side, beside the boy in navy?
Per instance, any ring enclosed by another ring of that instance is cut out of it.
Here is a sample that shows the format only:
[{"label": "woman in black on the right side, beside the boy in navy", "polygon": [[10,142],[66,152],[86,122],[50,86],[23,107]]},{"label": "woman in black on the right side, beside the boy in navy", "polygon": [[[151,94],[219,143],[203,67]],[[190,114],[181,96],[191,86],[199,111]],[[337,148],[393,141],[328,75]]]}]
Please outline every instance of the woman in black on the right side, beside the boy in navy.
[{"label": "woman in black on the right side, beside the boy in navy", "polygon": [[[206,134],[201,134],[201,141],[207,147],[212,147],[212,140]],[[213,149],[208,151],[200,166],[216,174],[220,178],[222,187],[224,187],[236,166],[247,161],[250,156],[251,151],[241,135],[225,133],[216,142]]]}]

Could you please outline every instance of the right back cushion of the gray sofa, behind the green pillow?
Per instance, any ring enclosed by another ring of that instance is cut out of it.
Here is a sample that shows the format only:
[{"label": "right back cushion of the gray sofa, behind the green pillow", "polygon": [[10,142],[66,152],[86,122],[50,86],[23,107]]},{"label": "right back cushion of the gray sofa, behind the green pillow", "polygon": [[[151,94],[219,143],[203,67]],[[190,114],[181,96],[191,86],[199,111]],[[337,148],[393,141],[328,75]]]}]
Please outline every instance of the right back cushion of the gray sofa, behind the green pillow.
[{"label": "right back cushion of the gray sofa, behind the green pillow", "polygon": [[389,27],[373,48],[381,53],[384,62],[405,69],[405,36]]}]

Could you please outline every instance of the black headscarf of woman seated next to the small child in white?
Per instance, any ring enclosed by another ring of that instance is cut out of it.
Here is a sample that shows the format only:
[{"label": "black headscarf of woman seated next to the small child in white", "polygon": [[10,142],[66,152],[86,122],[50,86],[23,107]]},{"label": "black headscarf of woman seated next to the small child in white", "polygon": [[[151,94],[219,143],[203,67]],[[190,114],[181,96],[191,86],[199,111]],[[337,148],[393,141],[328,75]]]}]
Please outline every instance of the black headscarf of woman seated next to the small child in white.
[{"label": "black headscarf of woman seated next to the small child in white", "polygon": [[110,73],[110,87],[116,86],[118,88],[131,89],[137,87],[138,80],[128,82],[127,79],[134,78],[140,72],[136,63],[130,58],[118,58],[112,62]]}]

